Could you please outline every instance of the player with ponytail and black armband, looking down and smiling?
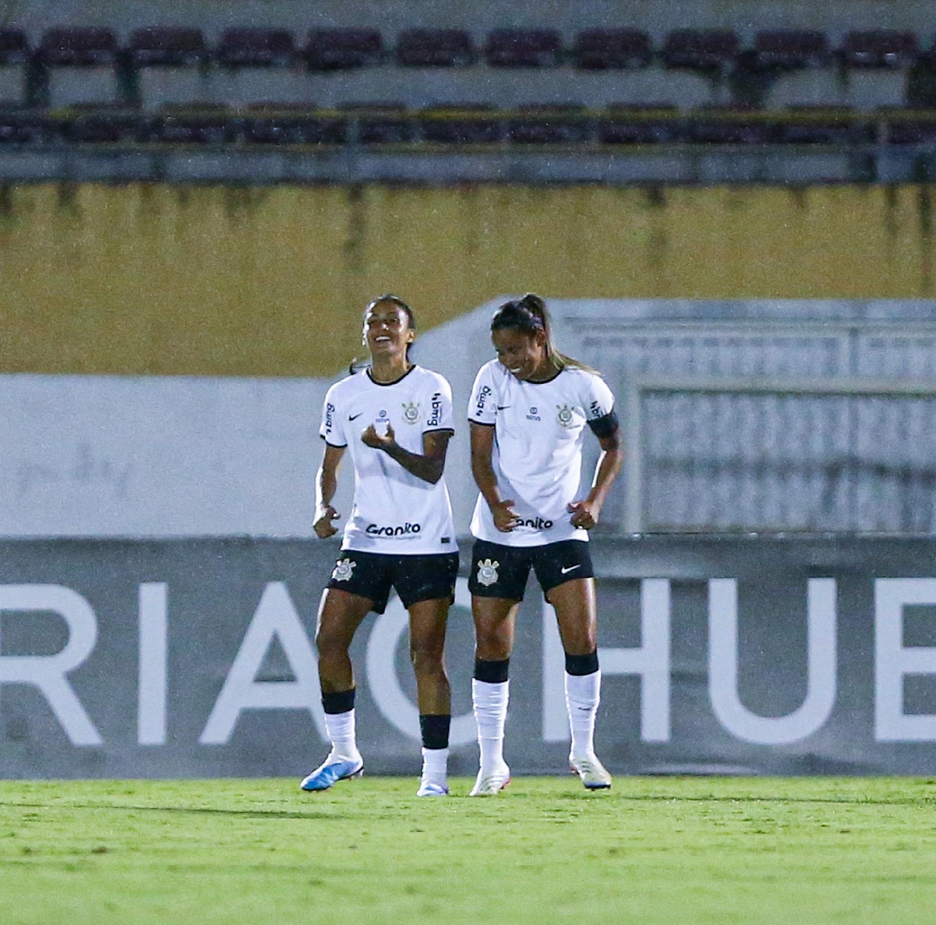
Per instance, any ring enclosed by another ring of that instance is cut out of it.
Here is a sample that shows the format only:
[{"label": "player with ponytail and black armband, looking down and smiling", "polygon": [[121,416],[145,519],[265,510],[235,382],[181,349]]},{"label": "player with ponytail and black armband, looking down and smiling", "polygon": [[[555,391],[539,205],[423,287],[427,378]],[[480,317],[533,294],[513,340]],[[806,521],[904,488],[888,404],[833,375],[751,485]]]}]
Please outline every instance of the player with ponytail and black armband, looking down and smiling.
[{"label": "player with ponytail and black armband, looking down and smiling", "polygon": [[[594,572],[585,541],[621,469],[614,398],[595,370],[556,349],[539,296],[506,302],[490,331],[497,359],[478,372],[468,409],[472,471],[480,489],[471,524],[469,587],[481,768],[471,795],[492,795],[510,782],[504,760],[507,670],[531,567],[556,610],[565,650],[570,768],[586,788],[608,788],[611,775],[593,746],[601,672]],[[586,425],[603,452],[591,492],[578,499]]]}]

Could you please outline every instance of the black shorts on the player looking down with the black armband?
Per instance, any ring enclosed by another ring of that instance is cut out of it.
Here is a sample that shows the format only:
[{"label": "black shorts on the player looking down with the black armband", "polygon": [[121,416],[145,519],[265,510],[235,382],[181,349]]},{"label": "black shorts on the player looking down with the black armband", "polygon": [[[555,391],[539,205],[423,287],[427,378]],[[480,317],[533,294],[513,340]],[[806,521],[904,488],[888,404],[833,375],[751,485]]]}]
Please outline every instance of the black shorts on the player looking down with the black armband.
[{"label": "black shorts on the player looking down with the black armband", "polygon": [[588,543],[582,540],[561,540],[542,546],[505,546],[475,540],[468,587],[479,598],[523,600],[531,568],[546,600],[549,591],[558,585],[594,577]]}]

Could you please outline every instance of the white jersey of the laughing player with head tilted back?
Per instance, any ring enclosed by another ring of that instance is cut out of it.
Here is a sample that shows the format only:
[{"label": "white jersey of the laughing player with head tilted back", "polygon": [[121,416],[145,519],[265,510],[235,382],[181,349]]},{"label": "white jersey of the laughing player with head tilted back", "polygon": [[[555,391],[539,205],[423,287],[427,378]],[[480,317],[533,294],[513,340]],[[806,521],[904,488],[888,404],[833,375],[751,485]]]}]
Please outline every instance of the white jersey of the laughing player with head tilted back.
[{"label": "white jersey of the laughing player with head tilted back", "polygon": [[424,433],[454,430],[451,387],[438,373],[415,366],[395,383],[375,383],[365,369],[329,388],[319,433],[332,446],[346,446],[354,465],[354,508],[342,549],[394,556],[455,552],[445,476],[425,482],[361,441],[369,425],[380,433],[388,422],[402,448],[421,455]]}]

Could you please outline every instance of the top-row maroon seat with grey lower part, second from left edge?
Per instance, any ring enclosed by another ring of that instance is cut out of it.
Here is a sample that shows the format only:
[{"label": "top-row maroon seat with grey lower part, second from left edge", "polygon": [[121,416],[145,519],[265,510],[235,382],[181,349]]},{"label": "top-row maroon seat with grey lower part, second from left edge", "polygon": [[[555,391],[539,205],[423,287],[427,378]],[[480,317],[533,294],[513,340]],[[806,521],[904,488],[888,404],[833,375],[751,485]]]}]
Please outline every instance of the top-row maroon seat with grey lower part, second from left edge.
[{"label": "top-row maroon seat with grey lower part, second from left edge", "polygon": [[43,33],[34,55],[37,99],[52,107],[110,103],[120,97],[117,36],[98,26],[60,26]]}]

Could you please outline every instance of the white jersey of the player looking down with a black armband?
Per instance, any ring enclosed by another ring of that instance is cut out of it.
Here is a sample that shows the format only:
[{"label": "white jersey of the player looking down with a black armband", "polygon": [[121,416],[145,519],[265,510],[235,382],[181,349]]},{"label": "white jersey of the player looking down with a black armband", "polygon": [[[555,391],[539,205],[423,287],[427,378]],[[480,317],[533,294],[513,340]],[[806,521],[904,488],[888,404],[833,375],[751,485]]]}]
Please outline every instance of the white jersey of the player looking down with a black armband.
[{"label": "white jersey of the player looking down with a black armband", "polygon": [[491,463],[502,499],[513,499],[519,527],[494,527],[488,502],[478,495],[471,531],[505,546],[540,546],[588,540],[566,510],[578,499],[582,442],[589,421],[610,413],[614,396],[601,376],[567,367],[548,383],[527,383],[498,360],[478,371],[468,420],[494,427]]}]

